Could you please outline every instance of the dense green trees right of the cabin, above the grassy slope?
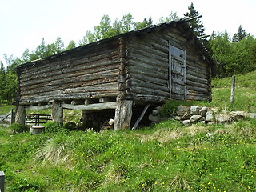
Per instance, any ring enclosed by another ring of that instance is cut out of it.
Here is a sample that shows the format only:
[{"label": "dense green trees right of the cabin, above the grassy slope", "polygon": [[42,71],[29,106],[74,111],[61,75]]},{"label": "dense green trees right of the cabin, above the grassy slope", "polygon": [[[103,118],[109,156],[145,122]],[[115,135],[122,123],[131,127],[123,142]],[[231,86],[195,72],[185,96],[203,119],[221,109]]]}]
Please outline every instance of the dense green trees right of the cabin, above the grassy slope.
[{"label": "dense green trees right of the cabin, above the grassy slope", "polygon": [[216,74],[219,77],[247,73],[256,69],[254,50],[256,39],[253,36],[248,35],[238,42],[230,42],[230,36],[226,31],[213,33],[207,46],[218,65]]}]

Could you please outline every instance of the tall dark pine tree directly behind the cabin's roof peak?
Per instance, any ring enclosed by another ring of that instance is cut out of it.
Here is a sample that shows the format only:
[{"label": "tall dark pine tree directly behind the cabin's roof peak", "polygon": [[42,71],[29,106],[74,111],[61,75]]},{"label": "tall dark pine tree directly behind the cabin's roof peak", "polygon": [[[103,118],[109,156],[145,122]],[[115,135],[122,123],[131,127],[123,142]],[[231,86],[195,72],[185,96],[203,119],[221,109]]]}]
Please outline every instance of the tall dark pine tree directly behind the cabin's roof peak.
[{"label": "tall dark pine tree directly behind the cabin's roof peak", "polygon": [[[191,2],[191,5],[188,7],[188,9],[189,9],[189,11],[186,14],[184,14],[185,17],[194,18],[194,17],[200,15],[198,10],[194,9],[193,2]],[[190,21],[190,26],[194,30],[194,34],[196,34],[198,37],[206,35],[205,27],[203,26],[203,24],[199,18],[196,18],[196,19]]]}]

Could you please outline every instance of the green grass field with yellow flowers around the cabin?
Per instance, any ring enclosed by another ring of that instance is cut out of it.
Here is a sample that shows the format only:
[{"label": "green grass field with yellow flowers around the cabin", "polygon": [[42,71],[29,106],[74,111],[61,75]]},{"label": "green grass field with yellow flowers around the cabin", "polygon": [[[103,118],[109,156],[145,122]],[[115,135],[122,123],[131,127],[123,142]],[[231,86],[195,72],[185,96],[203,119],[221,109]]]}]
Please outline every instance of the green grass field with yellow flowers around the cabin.
[{"label": "green grass field with yellow flowers around the cabin", "polygon": [[[234,105],[231,78],[214,79],[213,102],[198,104],[255,113],[255,74],[238,75]],[[7,192],[256,191],[255,130],[255,119],[39,135],[0,128],[0,170]]]}]

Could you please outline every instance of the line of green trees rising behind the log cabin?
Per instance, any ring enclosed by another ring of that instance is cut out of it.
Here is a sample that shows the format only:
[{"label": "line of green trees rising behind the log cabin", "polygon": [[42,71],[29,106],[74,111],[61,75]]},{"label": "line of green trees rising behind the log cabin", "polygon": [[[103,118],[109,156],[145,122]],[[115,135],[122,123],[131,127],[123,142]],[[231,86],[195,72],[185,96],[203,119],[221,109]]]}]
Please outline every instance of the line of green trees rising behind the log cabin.
[{"label": "line of green trees rising behind the log cabin", "polygon": [[[196,17],[199,15],[198,10],[191,3],[184,17]],[[147,26],[154,26],[162,22],[170,22],[178,20],[176,12],[171,12],[169,16],[159,18],[154,23],[152,18],[144,18],[142,22],[134,22],[133,15],[124,14],[121,19],[116,18],[112,23],[108,15],[103,15],[98,26],[94,26],[93,30],[86,31],[86,35],[78,44],[70,41],[68,46],[64,46],[61,38],[57,38],[55,42],[46,44],[42,38],[40,45],[33,51],[26,49],[21,57],[14,58],[13,55],[4,55],[7,67],[3,67],[0,61],[0,103],[3,100],[14,101],[17,89],[16,67],[26,62],[34,61],[38,58],[46,58],[53,54],[58,54],[64,50],[70,50],[76,46],[82,46],[91,42],[96,42],[104,38],[110,38],[114,35],[123,34],[131,30],[139,30]],[[196,18],[190,22],[194,34],[198,37],[205,37],[205,27],[200,18]],[[256,39],[242,28],[238,27],[238,32],[230,38],[230,34],[225,32],[213,32],[210,38],[201,38],[202,43],[209,50],[210,56],[214,59],[216,66],[214,67],[214,76],[227,77],[233,74],[246,73],[256,70]]]}]

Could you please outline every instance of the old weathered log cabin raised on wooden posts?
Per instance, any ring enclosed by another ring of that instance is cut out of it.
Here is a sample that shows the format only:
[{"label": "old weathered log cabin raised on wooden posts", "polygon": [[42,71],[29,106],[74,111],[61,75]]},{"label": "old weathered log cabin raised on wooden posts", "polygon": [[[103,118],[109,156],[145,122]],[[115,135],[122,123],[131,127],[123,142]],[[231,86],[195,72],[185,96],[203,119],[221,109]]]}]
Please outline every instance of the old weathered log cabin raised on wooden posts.
[{"label": "old weathered log cabin raised on wooden posts", "polygon": [[212,66],[186,19],[120,34],[18,66],[16,122],[47,108],[63,122],[70,109],[87,122],[112,116],[115,130],[127,129],[148,103],[210,101]]}]

